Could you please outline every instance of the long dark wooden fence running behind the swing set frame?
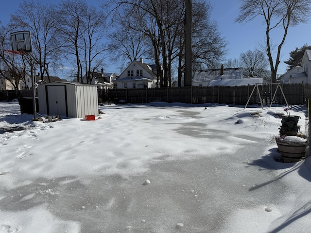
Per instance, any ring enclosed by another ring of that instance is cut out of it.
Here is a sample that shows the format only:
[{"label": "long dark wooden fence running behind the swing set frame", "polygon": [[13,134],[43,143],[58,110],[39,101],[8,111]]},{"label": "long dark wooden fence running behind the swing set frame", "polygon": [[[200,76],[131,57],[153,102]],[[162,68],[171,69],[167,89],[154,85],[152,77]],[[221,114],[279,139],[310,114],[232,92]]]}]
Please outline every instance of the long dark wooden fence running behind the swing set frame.
[{"label": "long dark wooden fence running behind the swing set frame", "polygon": [[[290,105],[306,104],[306,99],[311,98],[311,86],[309,84],[267,83],[258,84],[258,88],[256,85],[244,85],[109,89],[107,99],[112,102],[125,100],[128,103],[163,101],[168,103],[225,103],[245,105],[248,100],[248,104],[260,104],[260,94],[262,104],[267,105],[273,102],[273,104],[284,105],[286,101],[282,95],[281,88]],[[251,95],[252,92],[253,94]],[[273,99],[274,95],[275,98]]]}]

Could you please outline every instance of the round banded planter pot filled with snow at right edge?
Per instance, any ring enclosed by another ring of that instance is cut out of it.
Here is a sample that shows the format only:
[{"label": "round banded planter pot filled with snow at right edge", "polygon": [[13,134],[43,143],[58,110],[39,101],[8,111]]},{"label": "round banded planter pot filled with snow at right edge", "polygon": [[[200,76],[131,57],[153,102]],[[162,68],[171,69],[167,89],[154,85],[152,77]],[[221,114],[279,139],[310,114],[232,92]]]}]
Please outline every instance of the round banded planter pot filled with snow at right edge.
[{"label": "round banded planter pot filled with snow at right edge", "polygon": [[276,142],[278,150],[285,163],[294,163],[301,160],[305,154],[307,143],[284,143]]}]

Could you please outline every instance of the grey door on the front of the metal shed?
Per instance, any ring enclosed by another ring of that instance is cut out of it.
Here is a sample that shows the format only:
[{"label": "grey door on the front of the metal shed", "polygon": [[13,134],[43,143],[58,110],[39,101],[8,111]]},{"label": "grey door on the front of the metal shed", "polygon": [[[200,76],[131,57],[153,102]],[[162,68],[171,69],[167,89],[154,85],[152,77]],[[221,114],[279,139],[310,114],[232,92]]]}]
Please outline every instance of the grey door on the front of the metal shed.
[{"label": "grey door on the front of the metal shed", "polygon": [[65,85],[47,86],[48,114],[66,115],[66,93]]}]

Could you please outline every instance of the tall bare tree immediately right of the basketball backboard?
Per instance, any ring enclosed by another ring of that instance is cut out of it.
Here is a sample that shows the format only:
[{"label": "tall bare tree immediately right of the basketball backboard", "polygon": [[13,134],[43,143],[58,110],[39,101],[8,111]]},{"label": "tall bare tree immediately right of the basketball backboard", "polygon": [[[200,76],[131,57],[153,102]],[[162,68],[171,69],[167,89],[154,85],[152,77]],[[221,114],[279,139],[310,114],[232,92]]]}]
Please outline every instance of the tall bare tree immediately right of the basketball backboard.
[{"label": "tall bare tree immediately right of the basketball backboard", "polygon": [[56,70],[62,65],[62,42],[55,36],[58,19],[54,6],[24,0],[17,12],[11,15],[11,23],[20,30],[31,31],[34,63],[39,66],[41,79],[46,74],[50,81],[49,68]]}]

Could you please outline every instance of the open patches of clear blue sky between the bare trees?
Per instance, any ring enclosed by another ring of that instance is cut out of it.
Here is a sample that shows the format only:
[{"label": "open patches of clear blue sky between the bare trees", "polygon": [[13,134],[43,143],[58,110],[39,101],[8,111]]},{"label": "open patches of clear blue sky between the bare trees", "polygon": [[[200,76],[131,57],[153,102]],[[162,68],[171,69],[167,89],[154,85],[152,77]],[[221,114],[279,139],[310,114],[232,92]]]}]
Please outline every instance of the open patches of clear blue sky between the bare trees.
[{"label": "open patches of clear blue sky between the bare trees", "polygon": [[[42,2],[60,2],[61,0],[42,0]],[[0,0],[0,20],[6,24],[10,14],[17,10],[20,0]],[[99,5],[99,0],[87,0],[88,4]],[[265,25],[261,18],[247,22],[245,24],[235,23],[234,20],[239,14],[239,0],[211,0],[213,11],[211,18],[218,22],[220,31],[229,42],[227,59],[239,58],[241,52],[255,50],[259,41],[265,39]],[[286,61],[289,58],[290,51],[300,48],[304,44],[311,45],[311,21],[307,24],[300,24],[297,27],[290,28],[285,44],[282,48],[281,63],[278,67],[278,74],[286,72]],[[279,43],[280,36],[275,35],[275,43]],[[225,59],[225,60],[227,60]],[[225,61],[224,61],[225,62]],[[117,72],[115,67],[107,65],[106,72]]]}]

